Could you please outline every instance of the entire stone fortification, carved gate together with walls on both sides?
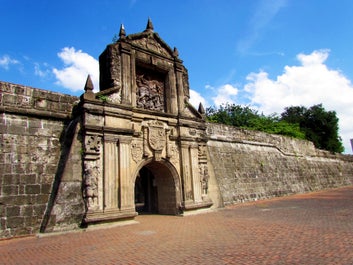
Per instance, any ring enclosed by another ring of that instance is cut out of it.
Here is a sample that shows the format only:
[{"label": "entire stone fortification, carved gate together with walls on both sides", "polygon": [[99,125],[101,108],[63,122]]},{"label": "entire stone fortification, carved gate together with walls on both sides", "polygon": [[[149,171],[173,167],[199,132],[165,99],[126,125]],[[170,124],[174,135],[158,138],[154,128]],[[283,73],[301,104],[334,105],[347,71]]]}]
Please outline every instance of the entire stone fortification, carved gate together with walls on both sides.
[{"label": "entire stone fortification, carved gate together with walls on both sides", "polygon": [[80,98],[0,82],[0,237],[353,184],[352,156],[207,123],[150,20],[121,26],[99,65],[99,92],[88,76]]}]

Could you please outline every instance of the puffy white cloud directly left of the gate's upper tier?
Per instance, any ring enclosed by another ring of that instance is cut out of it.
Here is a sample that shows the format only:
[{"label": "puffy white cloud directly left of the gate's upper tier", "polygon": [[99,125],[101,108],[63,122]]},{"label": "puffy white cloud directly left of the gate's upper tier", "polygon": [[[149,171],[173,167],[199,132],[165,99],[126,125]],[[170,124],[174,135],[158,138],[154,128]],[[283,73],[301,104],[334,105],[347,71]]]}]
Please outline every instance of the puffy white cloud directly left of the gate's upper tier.
[{"label": "puffy white cloud directly left of the gate's upper tier", "polygon": [[72,91],[84,89],[87,75],[90,74],[95,90],[99,87],[99,63],[91,55],[65,47],[58,53],[59,58],[64,62],[65,67],[61,70],[53,69],[57,78],[57,84]]}]

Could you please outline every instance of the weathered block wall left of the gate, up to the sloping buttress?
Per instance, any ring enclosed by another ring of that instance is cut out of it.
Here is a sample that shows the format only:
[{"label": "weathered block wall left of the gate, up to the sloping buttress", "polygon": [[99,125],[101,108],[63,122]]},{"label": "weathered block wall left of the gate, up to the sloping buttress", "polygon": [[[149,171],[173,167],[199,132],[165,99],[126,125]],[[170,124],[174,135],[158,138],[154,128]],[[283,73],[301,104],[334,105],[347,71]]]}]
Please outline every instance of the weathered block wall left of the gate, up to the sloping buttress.
[{"label": "weathered block wall left of the gate, up to the sloping buttress", "polygon": [[0,238],[39,231],[76,100],[0,82]]}]

